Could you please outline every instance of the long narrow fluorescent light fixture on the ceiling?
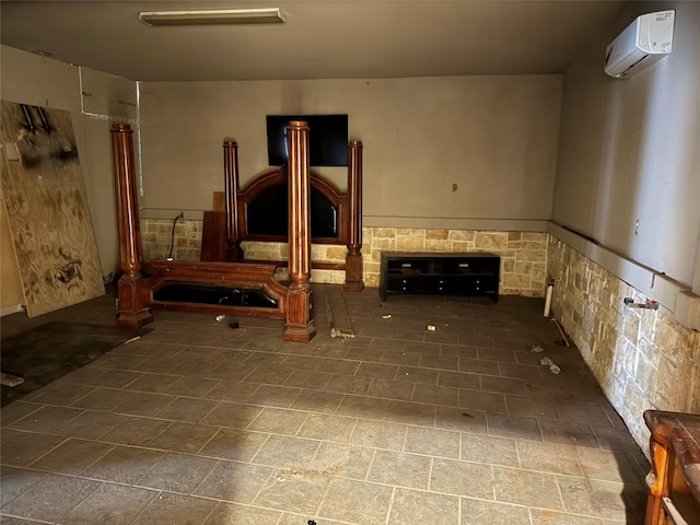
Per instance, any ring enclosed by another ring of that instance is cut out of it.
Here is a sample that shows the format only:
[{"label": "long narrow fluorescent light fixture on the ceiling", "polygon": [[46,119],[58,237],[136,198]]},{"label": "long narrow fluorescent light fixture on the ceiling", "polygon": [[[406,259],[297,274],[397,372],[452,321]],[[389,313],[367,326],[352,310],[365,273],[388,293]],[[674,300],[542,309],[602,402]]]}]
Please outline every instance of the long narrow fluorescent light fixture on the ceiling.
[{"label": "long narrow fluorescent light fixture on the ceiling", "polygon": [[283,24],[284,13],[270,9],[210,9],[205,11],[141,11],[145,25]]}]

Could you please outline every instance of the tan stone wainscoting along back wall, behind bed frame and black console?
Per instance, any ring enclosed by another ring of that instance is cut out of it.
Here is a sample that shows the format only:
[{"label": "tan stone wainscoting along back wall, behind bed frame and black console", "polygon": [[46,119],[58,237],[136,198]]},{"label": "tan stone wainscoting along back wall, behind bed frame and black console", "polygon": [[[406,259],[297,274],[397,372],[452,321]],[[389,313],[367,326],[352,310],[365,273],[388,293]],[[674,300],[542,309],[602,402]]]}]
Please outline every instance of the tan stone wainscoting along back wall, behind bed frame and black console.
[{"label": "tan stone wainscoting along back wall, behind bed frame and black console", "polygon": [[[185,221],[175,225],[175,259],[199,260],[201,224],[201,221]],[[143,260],[167,257],[172,229],[170,220],[141,220]],[[289,256],[287,243],[244,242],[242,247],[249,259],[287,260]],[[490,252],[501,257],[501,294],[542,298],[546,290],[546,233],[364,228],[362,254],[366,287],[380,285],[382,252]],[[346,246],[313,245],[312,260],[343,264],[346,253]],[[340,284],[345,282],[345,272],[313,270],[312,281]]]}]

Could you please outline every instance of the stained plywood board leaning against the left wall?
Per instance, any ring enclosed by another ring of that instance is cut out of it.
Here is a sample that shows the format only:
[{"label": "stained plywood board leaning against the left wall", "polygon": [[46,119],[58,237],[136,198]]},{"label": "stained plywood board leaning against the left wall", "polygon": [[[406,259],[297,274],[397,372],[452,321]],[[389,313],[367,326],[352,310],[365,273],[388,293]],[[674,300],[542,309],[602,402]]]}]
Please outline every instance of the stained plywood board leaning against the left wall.
[{"label": "stained plywood board leaning against the left wall", "polygon": [[0,145],[27,315],[104,295],[70,114],[2,101]]}]

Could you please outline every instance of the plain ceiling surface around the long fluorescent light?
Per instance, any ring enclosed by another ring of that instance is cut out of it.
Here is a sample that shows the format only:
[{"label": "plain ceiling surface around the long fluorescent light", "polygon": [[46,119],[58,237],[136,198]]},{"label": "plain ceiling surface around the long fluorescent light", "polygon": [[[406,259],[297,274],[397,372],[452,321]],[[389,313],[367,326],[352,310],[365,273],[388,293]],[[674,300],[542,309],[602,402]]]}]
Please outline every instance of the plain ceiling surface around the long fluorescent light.
[{"label": "plain ceiling surface around the long fluorescent light", "polygon": [[[0,1],[2,44],[142,81],[558,73],[627,1]],[[139,11],[279,7],[285,24],[149,27]]]}]

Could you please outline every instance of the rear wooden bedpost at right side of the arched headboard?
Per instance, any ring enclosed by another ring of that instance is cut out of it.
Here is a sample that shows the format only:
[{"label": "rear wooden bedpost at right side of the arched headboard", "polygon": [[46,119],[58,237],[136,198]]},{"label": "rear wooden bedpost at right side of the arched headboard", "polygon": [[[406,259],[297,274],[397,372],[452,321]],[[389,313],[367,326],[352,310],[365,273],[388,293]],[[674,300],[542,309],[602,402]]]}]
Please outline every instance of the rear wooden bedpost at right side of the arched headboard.
[{"label": "rear wooden bedpost at right side of the arched headboard", "polygon": [[350,206],[350,229],[348,255],[346,255],[347,292],[361,292],[362,280],[362,142],[352,140],[348,144],[348,205]]}]

